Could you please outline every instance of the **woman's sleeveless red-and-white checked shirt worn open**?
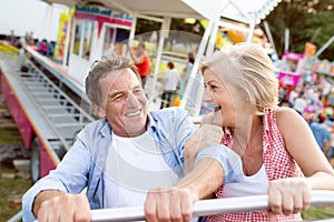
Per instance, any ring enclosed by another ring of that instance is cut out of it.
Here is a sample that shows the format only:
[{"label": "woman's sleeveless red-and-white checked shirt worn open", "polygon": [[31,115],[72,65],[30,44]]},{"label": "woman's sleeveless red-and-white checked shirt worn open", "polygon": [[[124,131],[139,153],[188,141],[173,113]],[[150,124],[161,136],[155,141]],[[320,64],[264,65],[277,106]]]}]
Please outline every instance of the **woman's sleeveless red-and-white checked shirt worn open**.
[{"label": "woman's sleeveless red-and-white checked shirt worn open", "polygon": [[[263,162],[269,181],[283,178],[304,176],[295,160],[289,155],[281,137],[276,123],[276,109],[266,109],[263,117]],[[233,138],[230,131],[225,129],[223,144],[232,148]],[[222,198],[224,185],[217,191],[217,198]],[[216,221],[268,221],[266,211],[220,214],[207,218],[207,222]],[[276,221],[302,221],[301,214],[276,215]]]}]

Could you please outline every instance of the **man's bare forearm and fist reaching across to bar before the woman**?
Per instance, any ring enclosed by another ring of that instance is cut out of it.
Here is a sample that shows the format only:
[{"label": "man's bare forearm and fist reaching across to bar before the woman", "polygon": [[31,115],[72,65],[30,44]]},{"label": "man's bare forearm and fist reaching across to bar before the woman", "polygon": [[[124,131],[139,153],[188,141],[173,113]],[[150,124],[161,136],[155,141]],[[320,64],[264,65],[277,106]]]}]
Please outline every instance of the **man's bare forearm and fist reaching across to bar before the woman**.
[{"label": "man's bare forearm and fist reaching across to bar before the woman", "polygon": [[213,194],[224,181],[222,165],[212,159],[196,161],[191,172],[174,188],[150,190],[145,202],[145,216],[151,221],[189,221],[193,204]]}]

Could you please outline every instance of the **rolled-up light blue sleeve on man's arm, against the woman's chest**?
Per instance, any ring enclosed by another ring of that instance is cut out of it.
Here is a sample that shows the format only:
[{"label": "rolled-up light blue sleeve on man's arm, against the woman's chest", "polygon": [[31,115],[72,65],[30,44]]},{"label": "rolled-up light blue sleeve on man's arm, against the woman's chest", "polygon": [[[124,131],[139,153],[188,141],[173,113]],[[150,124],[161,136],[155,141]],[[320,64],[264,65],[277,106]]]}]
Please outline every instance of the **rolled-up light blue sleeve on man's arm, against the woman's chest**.
[{"label": "rolled-up light blue sleeve on man's arm, against the woman's chest", "polygon": [[222,165],[224,170],[223,184],[236,183],[244,178],[240,157],[226,145],[217,144],[202,150],[197,154],[196,161],[203,158],[214,159]]}]

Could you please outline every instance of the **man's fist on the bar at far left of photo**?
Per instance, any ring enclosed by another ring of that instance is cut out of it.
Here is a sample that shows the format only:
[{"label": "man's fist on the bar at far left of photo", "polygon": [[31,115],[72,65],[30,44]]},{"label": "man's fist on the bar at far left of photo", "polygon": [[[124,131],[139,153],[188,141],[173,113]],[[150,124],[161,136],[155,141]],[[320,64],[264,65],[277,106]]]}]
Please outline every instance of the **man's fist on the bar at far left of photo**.
[{"label": "man's fist on the bar at far left of photo", "polygon": [[33,213],[39,222],[90,221],[90,206],[86,195],[59,191],[42,191],[35,200]]}]

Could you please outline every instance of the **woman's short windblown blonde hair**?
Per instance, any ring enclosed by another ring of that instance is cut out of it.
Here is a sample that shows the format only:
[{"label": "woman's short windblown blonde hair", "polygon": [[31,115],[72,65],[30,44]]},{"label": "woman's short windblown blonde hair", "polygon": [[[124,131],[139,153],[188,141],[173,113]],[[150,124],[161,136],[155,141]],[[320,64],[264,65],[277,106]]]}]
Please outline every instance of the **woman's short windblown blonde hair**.
[{"label": "woman's short windblown blonde hair", "polygon": [[200,68],[214,71],[226,85],[244,92],[254,114],[278,104],[278,80],[273,62],[261,46],[239,43],[224,47]]}]

